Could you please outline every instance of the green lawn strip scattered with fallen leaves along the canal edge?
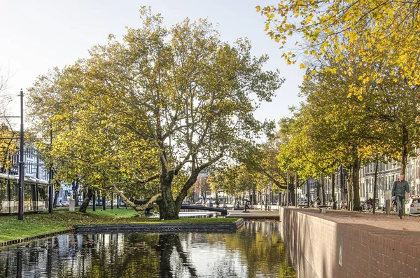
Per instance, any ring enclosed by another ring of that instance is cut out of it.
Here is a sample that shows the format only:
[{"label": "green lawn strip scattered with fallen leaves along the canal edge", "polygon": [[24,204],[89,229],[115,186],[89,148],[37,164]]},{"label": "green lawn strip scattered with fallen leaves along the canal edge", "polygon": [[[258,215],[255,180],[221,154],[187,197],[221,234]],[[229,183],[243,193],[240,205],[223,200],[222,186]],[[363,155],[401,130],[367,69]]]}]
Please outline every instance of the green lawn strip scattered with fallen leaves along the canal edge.
[{"label": "green lawn strip scattered with fallen leaves along the canal edge", "polygon": [[73,225],[117,224],[117,223],[215,223],[234,222],[237,218],[181,218],[172,221],[160,221],[159,218],[132,217],[138,213],[134,209],[87,209],[87,213],[69,212],[69,208],[55,209],[52,216],[43,214],[25,214],[22,221],[18,216],[0,216],[0,242],[41,235],[46,232],[66,230]]}]

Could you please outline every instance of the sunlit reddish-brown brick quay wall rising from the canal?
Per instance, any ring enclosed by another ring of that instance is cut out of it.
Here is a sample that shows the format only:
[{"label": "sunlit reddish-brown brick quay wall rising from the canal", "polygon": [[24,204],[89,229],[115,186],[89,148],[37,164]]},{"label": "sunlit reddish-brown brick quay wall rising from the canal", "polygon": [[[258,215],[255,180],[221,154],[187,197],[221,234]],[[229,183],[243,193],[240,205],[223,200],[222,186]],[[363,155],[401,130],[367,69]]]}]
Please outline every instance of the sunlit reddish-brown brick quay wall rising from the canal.
[{"label": "sunlit reddish-brown brick quay wall rising from the canal", "polygon": [[281,207],[279,216],[299,278],[420,277],[418,233],[339,223],[304,209]]}]

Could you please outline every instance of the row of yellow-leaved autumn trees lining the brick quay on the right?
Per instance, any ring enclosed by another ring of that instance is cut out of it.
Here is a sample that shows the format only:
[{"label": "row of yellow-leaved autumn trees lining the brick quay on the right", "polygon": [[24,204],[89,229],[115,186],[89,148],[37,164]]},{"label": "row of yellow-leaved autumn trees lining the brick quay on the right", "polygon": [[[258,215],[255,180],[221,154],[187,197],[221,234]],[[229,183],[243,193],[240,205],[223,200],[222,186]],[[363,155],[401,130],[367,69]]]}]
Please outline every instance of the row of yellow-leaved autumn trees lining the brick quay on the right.
[{"label": "row of yellow-leaved autumn trees lining the brick quay on the right", "polygon": [[319,178],[345,167],[356,210],[362,165],[397,160],[405,174],[420,131],[419,8],[416,1],[369,0],[257,7],[282,46],[302,38],[283,57],[291,64],[300,55],[307,69],[305,101],[280,121],[280,169]]}]

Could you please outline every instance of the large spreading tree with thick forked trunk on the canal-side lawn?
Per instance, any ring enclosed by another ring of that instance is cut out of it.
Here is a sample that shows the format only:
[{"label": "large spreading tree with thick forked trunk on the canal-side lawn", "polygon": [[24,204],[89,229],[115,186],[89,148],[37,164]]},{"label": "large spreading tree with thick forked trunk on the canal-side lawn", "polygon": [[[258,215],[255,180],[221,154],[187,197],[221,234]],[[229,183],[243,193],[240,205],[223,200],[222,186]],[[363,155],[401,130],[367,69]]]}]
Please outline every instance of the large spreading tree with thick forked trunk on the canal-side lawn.
[{"label": "large spreading tree with thick forked trunk on the canal-side lawn", "polygon": [[[94,47],[74,66],[76,74],[69,67],[69,94],[60,97],[73,99],[80,113],[94,113],[97,128],[111,136],[130,134],[144,146],[141,153],[153,150],[131,172],[149,172],[142,184],[159,181],[160,218],[176,219],[198,174],[269,126],[253,112],[281,78],[262,69],[268,57],[252,57],[249,41],[224,43],[206,20],[167,28],[147,8],[141,18],[143,27],[127,29],[122,42],[110,36],[106,46]],[[144,171],[144,162],[158,169]],[[175,183],[182,183],[178,190]]]}]

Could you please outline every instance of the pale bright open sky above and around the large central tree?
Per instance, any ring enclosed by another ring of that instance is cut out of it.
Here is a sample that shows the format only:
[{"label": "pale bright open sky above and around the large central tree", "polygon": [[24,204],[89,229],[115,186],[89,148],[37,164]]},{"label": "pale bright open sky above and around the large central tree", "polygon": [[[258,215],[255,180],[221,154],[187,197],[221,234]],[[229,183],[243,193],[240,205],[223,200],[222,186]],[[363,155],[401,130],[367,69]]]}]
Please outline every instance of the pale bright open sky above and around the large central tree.
[{"label": "pale bright open sky above and around the large central tree", "polygon": [[89,57],[87,51],[105,44],[109,34],[122,39],[125,27],[141,27],[139,8],[151,6],[153,13],[162,14],[167,26],[184,18],[207,18],[216,25],[223,41],[232,43],[246,37],[251,40],[253,55],[268,54],[265,69],[279,69],[286,81],[273,101],[255,112],[255,117],[278,121],[290,116],[288,106],[302,101],[297,93],[304,71],[299,69],[299,62],[286,65],[279,43],[264,32],[265,18],[255,12],[255,6],[272,4],[276,1],[0,0],[0,75],[9,76],[6,93],[15,97],[8,105],[8,114],[20,113],[20,88],[25,93],[48,69],[61,69],[78,58]]}]

